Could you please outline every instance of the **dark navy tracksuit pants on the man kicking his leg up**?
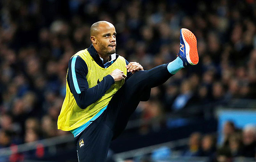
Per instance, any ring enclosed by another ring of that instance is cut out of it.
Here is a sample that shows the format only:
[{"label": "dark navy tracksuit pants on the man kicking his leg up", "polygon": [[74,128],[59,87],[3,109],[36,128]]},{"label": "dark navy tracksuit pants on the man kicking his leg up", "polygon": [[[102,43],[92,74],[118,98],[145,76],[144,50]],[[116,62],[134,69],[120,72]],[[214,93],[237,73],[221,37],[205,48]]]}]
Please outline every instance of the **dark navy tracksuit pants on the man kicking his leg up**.
[{"label": "dark navy tracksuit pants on the man kicking his leg up", "polygon": [[[137,71],[114,94],[107,109],[76,138],[79,162],[104,162],[110,141],[125,129],[128,119],[138,106],[141,94],[147,89],[165,83],[172,75],[167,65],[151,70]],[[83,139],[83,146],[79,141]]]}]

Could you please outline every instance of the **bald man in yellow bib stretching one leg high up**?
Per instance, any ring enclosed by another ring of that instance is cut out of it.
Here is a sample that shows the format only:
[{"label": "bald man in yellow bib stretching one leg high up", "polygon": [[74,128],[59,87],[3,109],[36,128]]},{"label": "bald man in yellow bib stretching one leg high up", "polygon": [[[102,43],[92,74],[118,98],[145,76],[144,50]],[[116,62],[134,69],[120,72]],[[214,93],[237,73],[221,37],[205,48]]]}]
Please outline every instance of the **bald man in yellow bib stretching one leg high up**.
[{"label": "bald man in yellow bib stretching one leg high up", "polygon": [[181,68],[198,63],[196,37],[180,30],[180,51],[170,63],[143,70],[115,53],[113,24],[99,21],[90,29],[92,45],[70,58],[66,97],[58,129],[74,134],[79,162],[104,162],[110,141],[125,129],[150,89],[165,83]]}]

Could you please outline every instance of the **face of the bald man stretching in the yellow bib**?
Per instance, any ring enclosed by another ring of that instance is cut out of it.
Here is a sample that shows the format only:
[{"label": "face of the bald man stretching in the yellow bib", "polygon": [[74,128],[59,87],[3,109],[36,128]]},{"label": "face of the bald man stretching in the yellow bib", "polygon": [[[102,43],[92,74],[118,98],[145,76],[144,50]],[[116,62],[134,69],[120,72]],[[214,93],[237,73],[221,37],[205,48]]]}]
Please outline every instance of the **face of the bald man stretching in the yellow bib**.
[{"label": "face of the bald man stretching in the yellow bib", "polygon": [[97,33],[97,45],[99,46],[99,53],[113,54],[115,53],[116,41],[115,41],[115,27],[112,24],[100,24],[99,31]]}]

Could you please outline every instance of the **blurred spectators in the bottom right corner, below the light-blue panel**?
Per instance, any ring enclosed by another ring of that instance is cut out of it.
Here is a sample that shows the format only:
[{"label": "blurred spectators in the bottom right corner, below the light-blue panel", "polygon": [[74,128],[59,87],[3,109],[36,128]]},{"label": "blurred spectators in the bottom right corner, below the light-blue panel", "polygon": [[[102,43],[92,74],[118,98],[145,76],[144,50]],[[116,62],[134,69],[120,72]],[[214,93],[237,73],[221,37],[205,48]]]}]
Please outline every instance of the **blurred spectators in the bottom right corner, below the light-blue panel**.
[{"label": "blurred spectators in the bottom right corner, below the light-blue panel", "polygon": [[217,144],[214,135],[202,136],[195,132],[190,135],[188,148],[183,156],[206,156],[209,161],[232,162],[237,157],[256,157],[256,126],[248,124],[242,129],[227,121],[222,130],[222,141]]}]

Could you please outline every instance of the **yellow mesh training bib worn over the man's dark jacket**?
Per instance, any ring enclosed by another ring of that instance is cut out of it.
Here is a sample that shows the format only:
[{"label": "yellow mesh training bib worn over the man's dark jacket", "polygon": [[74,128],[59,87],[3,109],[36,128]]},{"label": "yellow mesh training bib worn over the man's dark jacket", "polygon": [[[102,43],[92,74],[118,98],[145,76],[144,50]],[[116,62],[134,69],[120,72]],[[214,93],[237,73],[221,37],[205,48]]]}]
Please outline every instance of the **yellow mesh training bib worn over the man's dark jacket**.
[{"label": "yellow mesh training bib worn over the man's dark jacket", "polygon": [[[86,76],[89,88],[97,85],[97,81],[102,81],[103,77],[109,75],[113,70],[120,69],[125,75],[126,62],[125,58],[119,56],[112,65],[107,68],[100,67],[91,57],[90,53],[85,50],[81,50],[75,55],[80,56],[86,62],[88,67],[88,74]],[[75,56],[74,55],[74,56]],[[66,96],[58,117],[58,129],[63,131],[70,131],[84,123],[88,122],[96,113],[98,113],[102,108],[104,108],[113,97],[113,95],[122,87],[124,80],[115,82],[112,84],[110,89],[105,93],[104,96],[100,97],[96,102],[86,107],[86,109],[81,109],[76,104],[73,94],[70,92],[68,84],[66,83]]]}]

